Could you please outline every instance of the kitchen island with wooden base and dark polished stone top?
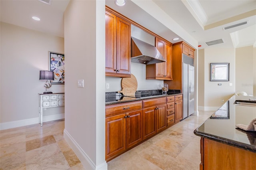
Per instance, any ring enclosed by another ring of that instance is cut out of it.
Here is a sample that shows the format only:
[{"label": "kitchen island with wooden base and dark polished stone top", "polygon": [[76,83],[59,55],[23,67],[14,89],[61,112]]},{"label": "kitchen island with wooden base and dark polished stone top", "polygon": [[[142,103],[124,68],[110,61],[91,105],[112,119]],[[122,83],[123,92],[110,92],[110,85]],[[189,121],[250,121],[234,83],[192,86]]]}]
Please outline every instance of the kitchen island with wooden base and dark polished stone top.
[{"label": "kitchen island with wooden base and dark polished stone top", "polygon": [[194,130],[201,136],[200,170],[256,169],[256,132],[236,128],[256,118],[256,107],[250,106],[255,103],[248,103],[249,99],[255,97],[232,96]]}]

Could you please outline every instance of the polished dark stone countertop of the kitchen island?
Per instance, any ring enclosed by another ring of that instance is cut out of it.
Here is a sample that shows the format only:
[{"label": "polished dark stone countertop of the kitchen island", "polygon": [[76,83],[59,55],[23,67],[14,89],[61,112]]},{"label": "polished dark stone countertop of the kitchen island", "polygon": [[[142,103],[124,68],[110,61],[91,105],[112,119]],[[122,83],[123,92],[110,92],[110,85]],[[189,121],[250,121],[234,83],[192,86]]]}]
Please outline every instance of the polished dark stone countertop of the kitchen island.
[{"label": "polished dark stone countertop of the kitchen island", "polygon": [[256,107],[234,104],[236,100],[248,101],[255,98],[252,96],[232,96],[211,117],[196,128],[194,134],[256,153],[256,131],[236,128],[237,124],[249,125],[256,118]]}]

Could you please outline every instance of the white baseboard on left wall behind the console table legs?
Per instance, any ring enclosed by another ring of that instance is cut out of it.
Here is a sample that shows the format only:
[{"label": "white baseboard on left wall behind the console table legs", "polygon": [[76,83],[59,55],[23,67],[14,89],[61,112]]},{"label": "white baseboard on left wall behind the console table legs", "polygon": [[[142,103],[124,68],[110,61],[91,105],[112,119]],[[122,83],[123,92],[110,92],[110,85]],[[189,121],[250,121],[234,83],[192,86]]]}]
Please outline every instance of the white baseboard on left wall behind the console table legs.
[{"label": "white baseboard on left wall behind the console table legs", "polygon": [[[55,121],[55,120],[64,119],[64,118],[65,118],[64,113],[50,115],[50,116],[44,116],[43,122]],[[19,121],[4,122],[4,123],[0,123],[0,130],[5,130],[8,128],[23,127],[23,126],[33,125],[33,124],[37,124],[37,123],[40,123],[40,119],[38,117],[31,118],[31,119],[23,119],[23,120],[19,120]]]}]

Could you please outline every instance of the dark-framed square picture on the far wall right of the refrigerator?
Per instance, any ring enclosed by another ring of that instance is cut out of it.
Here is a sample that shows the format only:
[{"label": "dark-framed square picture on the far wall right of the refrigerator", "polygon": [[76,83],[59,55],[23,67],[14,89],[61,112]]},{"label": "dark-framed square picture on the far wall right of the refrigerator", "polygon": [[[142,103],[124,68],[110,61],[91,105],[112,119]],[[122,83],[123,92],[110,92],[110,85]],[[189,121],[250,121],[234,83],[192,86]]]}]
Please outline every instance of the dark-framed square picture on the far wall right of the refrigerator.
[{"label": "dark-framed square picture on the far wall right of the refrigerator", "polygon": [[229,81],[229,63],[210,63],[210,81]]}]

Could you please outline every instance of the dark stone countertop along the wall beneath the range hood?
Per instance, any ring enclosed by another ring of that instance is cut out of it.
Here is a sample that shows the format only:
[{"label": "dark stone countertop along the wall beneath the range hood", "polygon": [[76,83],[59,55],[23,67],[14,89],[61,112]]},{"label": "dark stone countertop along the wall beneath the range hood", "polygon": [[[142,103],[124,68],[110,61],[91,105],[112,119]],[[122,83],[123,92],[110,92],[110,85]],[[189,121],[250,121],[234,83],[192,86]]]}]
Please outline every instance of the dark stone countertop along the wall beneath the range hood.
[{"label": "dark stone countertop along the wall beneath the range hood", "polygon": [[130,101],[139,101],[143,99],[151,99],[157,97],[167,97],[171,95],[182,94],[180,90],[169,90],[166,95],[162,94],[162,90],[140,90],[136,91],[135,97],[124,96],[117,92],[106,92],[106,105],[114,105],[118,103],[126,103]]}]

